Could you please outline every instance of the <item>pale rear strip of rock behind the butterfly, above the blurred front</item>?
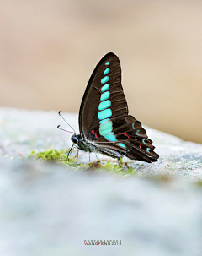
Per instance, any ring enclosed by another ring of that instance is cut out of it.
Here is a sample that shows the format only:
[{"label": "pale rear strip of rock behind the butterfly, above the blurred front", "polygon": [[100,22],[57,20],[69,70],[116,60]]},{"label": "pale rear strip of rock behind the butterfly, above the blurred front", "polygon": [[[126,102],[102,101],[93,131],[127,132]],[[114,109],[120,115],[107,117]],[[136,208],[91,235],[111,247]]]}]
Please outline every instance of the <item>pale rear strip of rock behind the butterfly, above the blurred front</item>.
[{"label": "pale rear strip of rock behind the butterfly, above the blurred front", "polygon": [[[61,114],[78,133],[77,115],[67,112]],[[70,148],[72,133],[57,129],[58,124],[61,124],[61,128],[72,131],[56,111],[0,108],[0,155],[17,158],[21,154],[27,156],[32,150],[46,150],[50,146],[57,150]],[[136,168],[137,175],[202,180],[202,144],[185,142],[173,135],[144,127],[160,158],[152,164],[125,158],[124,161]],[[88,162],[88,153],[80,150],[79,155],[79,161]],[[98,155],[98,158],[103,160],[106,156]],[[91,154],[91,160],[96,160],[95,155]]]}]

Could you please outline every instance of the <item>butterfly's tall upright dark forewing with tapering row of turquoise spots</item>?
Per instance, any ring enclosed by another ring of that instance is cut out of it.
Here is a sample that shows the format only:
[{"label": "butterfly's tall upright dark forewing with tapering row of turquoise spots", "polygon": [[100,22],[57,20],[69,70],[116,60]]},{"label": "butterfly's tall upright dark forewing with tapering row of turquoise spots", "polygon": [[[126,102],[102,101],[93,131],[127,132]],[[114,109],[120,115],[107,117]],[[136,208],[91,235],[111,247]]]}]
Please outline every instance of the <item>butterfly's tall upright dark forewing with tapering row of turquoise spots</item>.
[{"label": "butterfly's tall upright dark forewing with tapering row of turquoise spots", "polygon": [[[108,71],[109,73],[107,73]],[[107,84],[109,84],[109,89]],[[79,111],[79,129],[82,139],[87,139],[89,131],[94,127],[94,123],[99,126],[98,112],[100,111],[98,106],[101,100],[104,99],[104,95],[105,99],[109,95],[108,99],[111,101],[110,109],[112,115],[110,118],[128,114],[128,106],[121,85],[120,60],[112,52],[106,54],[99,61],[83,95]],[[103,96],[102,99],[101,96]],[[105,103],[109,103],[109,101]]]}]

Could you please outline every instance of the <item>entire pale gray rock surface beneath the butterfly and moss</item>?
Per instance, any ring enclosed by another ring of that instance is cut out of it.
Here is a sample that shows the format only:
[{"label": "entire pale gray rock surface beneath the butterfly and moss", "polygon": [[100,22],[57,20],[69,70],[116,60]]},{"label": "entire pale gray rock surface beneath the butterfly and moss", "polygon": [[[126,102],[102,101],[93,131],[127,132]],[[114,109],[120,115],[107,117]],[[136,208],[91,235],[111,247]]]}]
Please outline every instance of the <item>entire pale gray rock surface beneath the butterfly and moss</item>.
[{"label": "entire pale gray rock surface beneath the butterfly and moss", "polygon": [[[77,116],[64,117],[78,131]],[[25,160],[71,146],[58,124],[66,128],[57,112],[0,109],[0,255],[202,255],[200,144],[146,128],[160,160],[134,161],[136,175],[124,178]]]}]

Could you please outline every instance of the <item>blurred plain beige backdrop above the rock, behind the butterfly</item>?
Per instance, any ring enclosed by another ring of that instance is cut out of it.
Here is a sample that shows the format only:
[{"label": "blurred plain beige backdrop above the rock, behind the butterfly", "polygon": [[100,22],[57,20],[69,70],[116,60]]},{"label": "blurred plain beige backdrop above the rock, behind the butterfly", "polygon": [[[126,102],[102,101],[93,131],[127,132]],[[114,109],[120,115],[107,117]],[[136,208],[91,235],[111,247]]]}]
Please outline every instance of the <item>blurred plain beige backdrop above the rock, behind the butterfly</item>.
[{"label": "blurred plain beige backdrop above the rock, behind the butterfly", "polygon": [[108,52],[130,114],[202,143],[202,1],[0,2],[0,106],[78,112]]}]

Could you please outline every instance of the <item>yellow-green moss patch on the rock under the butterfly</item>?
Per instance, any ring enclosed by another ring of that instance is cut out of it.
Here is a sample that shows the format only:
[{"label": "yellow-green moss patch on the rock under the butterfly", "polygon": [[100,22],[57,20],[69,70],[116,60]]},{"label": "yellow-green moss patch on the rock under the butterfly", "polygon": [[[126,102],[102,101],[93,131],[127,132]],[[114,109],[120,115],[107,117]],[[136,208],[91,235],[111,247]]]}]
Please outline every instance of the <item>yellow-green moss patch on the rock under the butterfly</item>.
[{"label": "yellow-green moss patch on the rock under the butterfly", "polygon": [[29,154],[29,158],[42,161],[56,161],[62,165],[68,166],[68,168],[73,168],[74,170],[82,171],[96,171],[96,172],[110,172],[119,175],[131,175],[136,174],[136,169],[134,170],[127,163],[124,163],[122,159],[120,161],[95,161],[89,164],[76,163],[77,159],[72,156],[67,160],[66,154],[69,150],[56,150],[50,147],[49,150],[44,152],[35,153],[32,151]]}]

